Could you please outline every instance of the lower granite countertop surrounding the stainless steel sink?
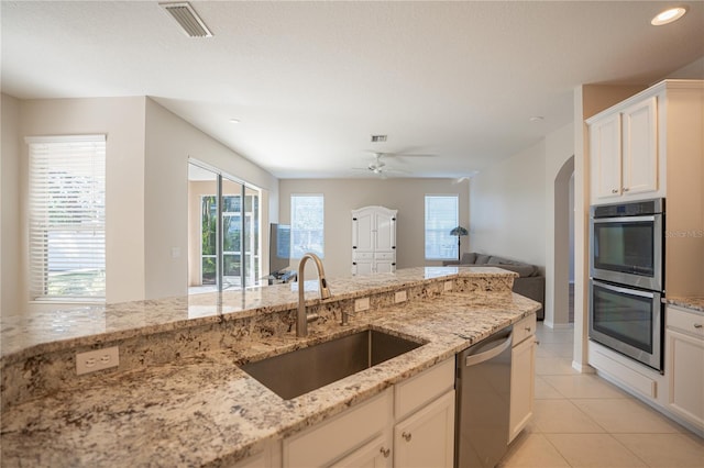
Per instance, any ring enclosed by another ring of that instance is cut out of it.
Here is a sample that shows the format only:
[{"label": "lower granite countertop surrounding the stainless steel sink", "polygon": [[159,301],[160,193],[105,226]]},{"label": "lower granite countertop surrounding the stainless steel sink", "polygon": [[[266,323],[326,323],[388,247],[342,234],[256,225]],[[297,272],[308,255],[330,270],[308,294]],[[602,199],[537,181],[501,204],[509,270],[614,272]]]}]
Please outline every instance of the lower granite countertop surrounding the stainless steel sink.
[{"label": "lower granite countertop surrounding the stainless steel sink", "polygon": [[[448,292],[359,314],[349,327],[320,324],[309,338],[262,337],[254,346],[210,349],[167,365],[107,374],[88,387],[77,380],[3,413],[2,466],[231,464],[451,358],[538,308],[510,291]],[[238,367],[300,347],[301,339],[315,343],[369,327],[426,344],[292,400]]]}]

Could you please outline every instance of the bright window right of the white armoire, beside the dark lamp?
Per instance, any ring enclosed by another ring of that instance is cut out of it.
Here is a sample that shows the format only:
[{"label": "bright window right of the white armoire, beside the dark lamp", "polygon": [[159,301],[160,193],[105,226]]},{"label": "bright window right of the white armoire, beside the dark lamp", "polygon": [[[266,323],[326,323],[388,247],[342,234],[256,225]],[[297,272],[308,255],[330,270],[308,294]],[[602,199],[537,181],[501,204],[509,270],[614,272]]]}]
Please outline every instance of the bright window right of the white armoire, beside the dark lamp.
[{"label": "bright window right of the white armoire, beside the dark lamp", "polygon": [[450,231],[459,224],[458,196],[426,196],[426,259],[458,258],[457,237]]}]

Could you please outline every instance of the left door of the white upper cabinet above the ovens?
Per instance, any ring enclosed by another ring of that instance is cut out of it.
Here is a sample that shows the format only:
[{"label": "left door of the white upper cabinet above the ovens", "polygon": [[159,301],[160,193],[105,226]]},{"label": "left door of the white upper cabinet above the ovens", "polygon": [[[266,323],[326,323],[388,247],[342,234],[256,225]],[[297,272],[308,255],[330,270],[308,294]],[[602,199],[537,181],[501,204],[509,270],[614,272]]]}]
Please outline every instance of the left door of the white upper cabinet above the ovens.
[{"label": "left door of the white upper cabinet above the ovens", "polygon": [[590,163],[594,199],[620,196],[620,129],[619,113],[594,122],[590,126]]}]

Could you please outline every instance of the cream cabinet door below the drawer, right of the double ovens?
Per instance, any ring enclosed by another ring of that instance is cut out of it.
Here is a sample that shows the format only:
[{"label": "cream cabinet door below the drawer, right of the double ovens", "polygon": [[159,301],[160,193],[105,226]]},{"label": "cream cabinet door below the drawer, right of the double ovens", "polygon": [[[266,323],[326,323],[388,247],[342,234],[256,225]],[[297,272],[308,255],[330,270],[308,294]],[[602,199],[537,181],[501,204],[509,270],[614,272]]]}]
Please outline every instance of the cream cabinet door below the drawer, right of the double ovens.
[{"label": "cream cabinet door below the drawer, right of the double ovens", "polygon": [[704,430],[704,339],[672,330],[666,332],[666,339],[668,406]]}]

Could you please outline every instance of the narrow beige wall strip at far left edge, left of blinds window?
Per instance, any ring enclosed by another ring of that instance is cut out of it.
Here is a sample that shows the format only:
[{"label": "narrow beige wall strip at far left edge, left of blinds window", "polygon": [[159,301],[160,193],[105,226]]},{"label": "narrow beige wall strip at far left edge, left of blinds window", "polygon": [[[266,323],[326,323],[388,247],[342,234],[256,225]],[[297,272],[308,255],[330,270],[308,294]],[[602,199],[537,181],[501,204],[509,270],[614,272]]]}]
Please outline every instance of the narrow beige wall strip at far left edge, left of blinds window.
[{"label": "narrow beige wall strip at far left edge, left of blinds window", "polygon": [[0,311],[15,313],[22,299],[20,258],[20,103],[2,94],[0,159]]}]

